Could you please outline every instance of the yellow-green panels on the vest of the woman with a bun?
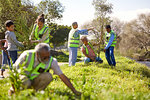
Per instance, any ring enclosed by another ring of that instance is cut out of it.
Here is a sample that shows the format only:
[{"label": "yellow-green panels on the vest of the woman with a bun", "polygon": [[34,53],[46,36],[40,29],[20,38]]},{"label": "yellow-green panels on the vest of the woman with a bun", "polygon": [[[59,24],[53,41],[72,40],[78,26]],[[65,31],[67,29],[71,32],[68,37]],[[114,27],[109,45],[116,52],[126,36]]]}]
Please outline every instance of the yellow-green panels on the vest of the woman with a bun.
[{"label": "yellow-green panels on the vest of the woman with a bun", "polygon": [[[42,36],[44,34],[46,34],[47,31],[49,31],[49,28],[44,25],[44,27],[38,32],[38,25],[35,24],[34,25],[34,35],[35,35],[35,38],[36,40],[40,40],[42,38]],[[49,43],[50,39],[49,39],[49,35],[46,37],[46,39],[44,40],[44,43]]]}]

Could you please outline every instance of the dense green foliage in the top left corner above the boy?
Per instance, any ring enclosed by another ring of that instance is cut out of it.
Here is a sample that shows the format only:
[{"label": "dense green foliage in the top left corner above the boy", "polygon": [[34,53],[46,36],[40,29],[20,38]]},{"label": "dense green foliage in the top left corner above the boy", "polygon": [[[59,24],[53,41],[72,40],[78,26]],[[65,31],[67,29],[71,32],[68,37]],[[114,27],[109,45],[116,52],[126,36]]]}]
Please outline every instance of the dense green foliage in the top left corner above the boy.
[{"label": "dense green foliage in the top left corner above the boy", "polygon": [[0,0],[0,26],[5,29],[6,20],[12,20],[20,25],[20,17],[24,16],[27,25],[31,26],[37,13],[36,8],[29,0]]}]

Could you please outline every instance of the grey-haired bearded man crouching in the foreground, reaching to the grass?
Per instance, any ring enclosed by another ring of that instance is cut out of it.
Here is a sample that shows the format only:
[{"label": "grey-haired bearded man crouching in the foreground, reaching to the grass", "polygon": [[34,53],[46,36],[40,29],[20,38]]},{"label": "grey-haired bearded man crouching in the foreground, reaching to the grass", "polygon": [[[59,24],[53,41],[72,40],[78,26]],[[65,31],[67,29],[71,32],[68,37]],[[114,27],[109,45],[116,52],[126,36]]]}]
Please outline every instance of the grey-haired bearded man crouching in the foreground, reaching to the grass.
[{"label": "grey-haired bearded man crouching in the foreground, reaching to the grass", "polygon": [[[24,51],[16,63],[15,68],[19,69],[21,64],[24,64],[23,71],[26,73],[23,77],[23,88],[33,88],[34,90],[44,90],[52,81],[52,74],[49,70],[52,69],[54,74],[72,90],[76,95],[81,95],[66,75],[61,71],[57,59],[53,58],[50,54],[50,47],[46,43],[39,43],[34,50]],[[13,86],[13,84],[12,84]],[[9,95],[15,92],[14,88],[9,90]]]}]

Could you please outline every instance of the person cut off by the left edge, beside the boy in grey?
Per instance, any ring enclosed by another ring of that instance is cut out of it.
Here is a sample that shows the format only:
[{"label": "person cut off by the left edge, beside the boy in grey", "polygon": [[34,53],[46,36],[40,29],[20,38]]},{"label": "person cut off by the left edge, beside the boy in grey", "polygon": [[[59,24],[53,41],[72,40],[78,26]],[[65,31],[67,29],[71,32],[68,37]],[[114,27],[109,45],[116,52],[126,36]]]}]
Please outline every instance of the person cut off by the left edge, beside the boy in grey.
[{"label": "person cut off by the left edge, beside the boy in grey", "polygon": [[[3,46],[4,44],[4,46]],[[4,78],[4,71],[5,71],[5,67],[6,64],[9,64],[10,66],[10,59],[8,57],[8,52],[7,52],[7,47],[8,47],[8,42],[6,41],[6,39],[2,39],[0,40],[0,48],[2,49],[2,67],[1,67],[1,76],[0,78]]]}]

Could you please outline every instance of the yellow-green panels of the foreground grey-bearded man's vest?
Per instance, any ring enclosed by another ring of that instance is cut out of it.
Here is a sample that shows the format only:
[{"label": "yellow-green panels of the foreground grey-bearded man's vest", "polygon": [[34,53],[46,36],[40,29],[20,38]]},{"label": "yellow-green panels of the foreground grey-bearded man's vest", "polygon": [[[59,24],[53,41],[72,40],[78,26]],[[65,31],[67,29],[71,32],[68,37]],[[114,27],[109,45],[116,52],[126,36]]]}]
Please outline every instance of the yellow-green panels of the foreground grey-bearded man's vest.
[{"label": "yellow-green panels of the foreground grey-bearded man's vest", "polygon": [[27,76],[30,80],[33,80],[40,74],[38,72],[40,68],[45,69],[44,72],[47,72],[50,69],[52,61],[53,61],[53,57],[51,56],[49,59],[49,64],[46,65],[44,63],[40,63],[39,65],[36,66],[36,68],[33,69],[34,59],[35,59],[35,52],[27,52],[26,64],[28,62],[29,64],[28,64],[28,67],[25,69],[25,71],[29,72],[29,75]]}]

